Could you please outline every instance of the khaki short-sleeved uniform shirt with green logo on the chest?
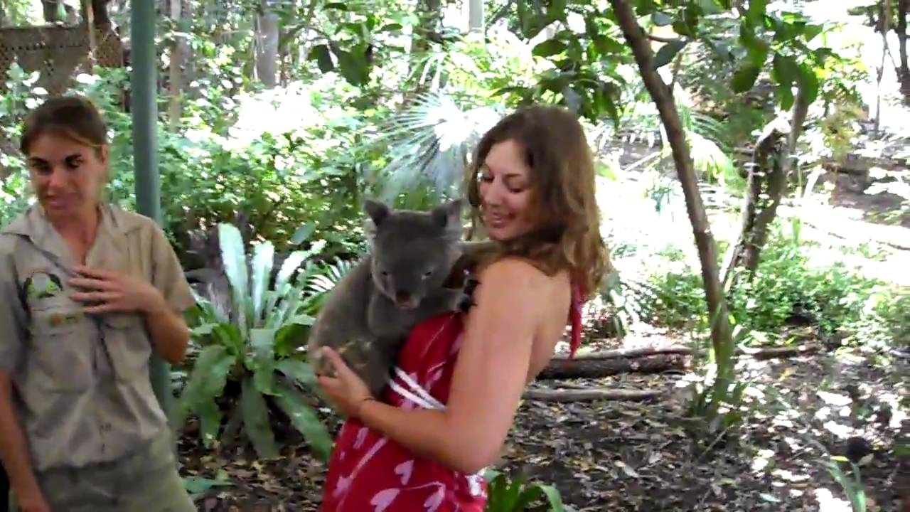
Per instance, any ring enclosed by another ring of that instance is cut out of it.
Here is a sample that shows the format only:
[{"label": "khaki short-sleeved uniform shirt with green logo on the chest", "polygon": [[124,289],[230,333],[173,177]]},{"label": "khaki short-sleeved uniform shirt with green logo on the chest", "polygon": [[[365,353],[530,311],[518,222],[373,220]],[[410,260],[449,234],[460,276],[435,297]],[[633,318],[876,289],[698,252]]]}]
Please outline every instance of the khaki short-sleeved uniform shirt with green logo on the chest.
[{"label": "khaki short-sleeved uniform shirt with green logo on the chest", "polygon": [[[196,301],[164,233],[102,206],[86,265],[151,282],[176,311]],[[0,371],[12,374],[35,471],[116,460],[167,418],[149,383],[153,345],[138,312],[86,315],[68,279],[76,261],[35,206],[0,230]]]}]

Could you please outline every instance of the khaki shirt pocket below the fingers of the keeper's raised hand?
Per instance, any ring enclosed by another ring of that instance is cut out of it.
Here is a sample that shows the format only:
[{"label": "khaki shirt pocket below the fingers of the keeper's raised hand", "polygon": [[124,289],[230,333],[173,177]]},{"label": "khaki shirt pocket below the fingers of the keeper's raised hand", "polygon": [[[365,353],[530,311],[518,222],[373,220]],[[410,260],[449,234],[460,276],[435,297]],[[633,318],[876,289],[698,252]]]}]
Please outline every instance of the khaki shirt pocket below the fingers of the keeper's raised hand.
[{"label": "khaki shirt pocket below the fingers of the keeper's raised hand", "polygon": [[106,314],[102,325],[107,353],[110,354],[116,380],[147,381],[151,340],[142,316],[135,312]]}]

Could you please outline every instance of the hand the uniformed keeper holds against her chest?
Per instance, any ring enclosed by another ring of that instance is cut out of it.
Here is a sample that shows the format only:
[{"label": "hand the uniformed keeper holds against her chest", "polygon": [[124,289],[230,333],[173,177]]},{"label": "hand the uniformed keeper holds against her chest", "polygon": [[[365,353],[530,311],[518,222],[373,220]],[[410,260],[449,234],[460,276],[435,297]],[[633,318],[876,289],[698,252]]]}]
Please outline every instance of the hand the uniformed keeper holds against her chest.
[{"label": "hand the uniformed keeper holds against her chest", "polygon": [[102,271],[85,266],[76,267],[85,277],[69,280],[71,286],[86,290],[73,292],[78,302],[93,302],[84,310],[88,314],[101,312],[157,312],[167,304],[161,293],[150,283],[125,273]]}]

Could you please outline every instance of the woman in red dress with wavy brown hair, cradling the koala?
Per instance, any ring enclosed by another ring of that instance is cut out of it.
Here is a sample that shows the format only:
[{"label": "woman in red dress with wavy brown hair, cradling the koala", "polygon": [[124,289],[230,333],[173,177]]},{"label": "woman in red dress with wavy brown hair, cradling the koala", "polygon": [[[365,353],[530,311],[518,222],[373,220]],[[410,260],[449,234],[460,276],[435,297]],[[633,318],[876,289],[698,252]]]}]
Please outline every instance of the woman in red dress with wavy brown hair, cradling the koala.
[{"label": "woman in red dress with wavy brown hair, cradling the koala", "polygon": [[491,128],[469,169],[472,221],[498,250],[474,269],[465,313],[420,323],[382,397],[325,349],[337,376],[319,384],[348,416],[329,461],[321,510],[486,506],[483,467],[500,456],[521,394],[550,361],[605,271],[594,164],[578,119],[521,108]]}]

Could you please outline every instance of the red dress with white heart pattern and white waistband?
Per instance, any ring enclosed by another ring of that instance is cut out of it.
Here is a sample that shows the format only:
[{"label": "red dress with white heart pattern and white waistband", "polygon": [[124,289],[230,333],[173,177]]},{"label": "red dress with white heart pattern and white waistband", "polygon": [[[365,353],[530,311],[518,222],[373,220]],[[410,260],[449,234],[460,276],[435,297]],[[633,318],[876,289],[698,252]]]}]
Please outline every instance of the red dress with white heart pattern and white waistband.
[{"label": "red dress with white heart pattern and white waistband", "polygon": [[[462,313],[447,312],[410,333],[383,402],[403,409],[444,408],[461,348]],[[580,293],[572,289],[571,348],[578,346]],[[429,392],[429,393],[428,393]],[[482,512],[480,475],[413,455],[385,435],[349,419],[341,427],[323,487],[320,512]]]}]

